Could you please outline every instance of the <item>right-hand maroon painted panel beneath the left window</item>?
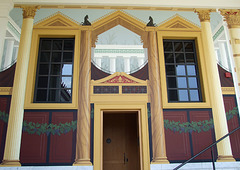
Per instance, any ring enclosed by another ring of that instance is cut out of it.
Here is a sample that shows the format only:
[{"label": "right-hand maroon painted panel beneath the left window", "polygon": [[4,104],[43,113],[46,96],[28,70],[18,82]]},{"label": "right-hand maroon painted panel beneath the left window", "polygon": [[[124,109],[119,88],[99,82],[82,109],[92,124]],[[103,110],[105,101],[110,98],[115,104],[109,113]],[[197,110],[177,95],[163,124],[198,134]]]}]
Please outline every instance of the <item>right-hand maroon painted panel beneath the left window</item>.
[{"label": "right-hand maroon painted panel beneath the left window", "polygon": [[[73,112],[53,112],[52,123],[66,123],[74,120]],[[76,131],[51,135],[49,163],[70,163],[75,159]]]}]

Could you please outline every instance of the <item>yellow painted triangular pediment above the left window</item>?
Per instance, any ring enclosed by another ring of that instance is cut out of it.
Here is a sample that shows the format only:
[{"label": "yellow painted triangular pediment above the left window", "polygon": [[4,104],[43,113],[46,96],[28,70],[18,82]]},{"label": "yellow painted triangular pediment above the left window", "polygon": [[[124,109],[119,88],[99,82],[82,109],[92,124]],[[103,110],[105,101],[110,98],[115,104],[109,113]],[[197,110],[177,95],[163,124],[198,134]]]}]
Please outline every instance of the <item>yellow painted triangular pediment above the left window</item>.
[{"label": "yellow painted triangular pediment above the left window", "polygon": [[61,12],[57,12],[34,25],[34,28],[47,29],[78,29],[79,27],[79,23],[62,14]]}]

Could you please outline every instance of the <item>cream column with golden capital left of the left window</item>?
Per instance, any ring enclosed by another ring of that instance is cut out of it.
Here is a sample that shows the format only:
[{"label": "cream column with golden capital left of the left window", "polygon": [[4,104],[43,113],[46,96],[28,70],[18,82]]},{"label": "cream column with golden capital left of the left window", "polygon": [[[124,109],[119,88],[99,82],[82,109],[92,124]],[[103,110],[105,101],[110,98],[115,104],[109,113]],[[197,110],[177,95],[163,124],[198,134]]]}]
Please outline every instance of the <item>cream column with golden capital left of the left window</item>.
[{"label": "cream column with golden capital left of the left window", "polygon": [[19,155],[24,114],[24,99],[29,54],[31,49],[33,18],[36,10],[36,6],[23,7],[22,32],[18,51],[18,61],[14,76],[6,145],[2,162],[3,166],[21,166],[19,163]]}]

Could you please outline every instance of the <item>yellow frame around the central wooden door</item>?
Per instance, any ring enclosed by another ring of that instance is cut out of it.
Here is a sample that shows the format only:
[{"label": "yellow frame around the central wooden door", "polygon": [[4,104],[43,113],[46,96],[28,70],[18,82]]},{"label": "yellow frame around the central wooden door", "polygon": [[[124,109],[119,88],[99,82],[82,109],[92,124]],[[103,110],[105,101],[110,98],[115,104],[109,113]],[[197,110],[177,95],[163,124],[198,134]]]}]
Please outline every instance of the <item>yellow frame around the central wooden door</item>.
[{"label": "yellow frame around the central wooden door", "polygon": [[136,111],[139,126],[140,170],[150,169],[147,103],[94,104],[94,170],[103,170],[103,114],[104,112]]}]

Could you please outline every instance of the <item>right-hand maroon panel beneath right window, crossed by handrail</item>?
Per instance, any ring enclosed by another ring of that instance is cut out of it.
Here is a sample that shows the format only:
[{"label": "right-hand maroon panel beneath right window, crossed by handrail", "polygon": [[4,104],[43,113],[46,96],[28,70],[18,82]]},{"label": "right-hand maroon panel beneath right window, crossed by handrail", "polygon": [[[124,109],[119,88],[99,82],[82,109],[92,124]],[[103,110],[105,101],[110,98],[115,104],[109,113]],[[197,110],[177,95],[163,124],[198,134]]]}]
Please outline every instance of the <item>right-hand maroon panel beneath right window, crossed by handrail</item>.
[{"label": "right-hand maroon panel beneath right window, crossed by handrail", "polygon": [[[190,111],[189,117],[190,122],[199,122],[204,120],[210,120],[211,117],[210,111]],[[192,132],[192,146],[193,146],[193,154],[196,155],[209,145],[211,145],[214,142],[213,138],[214,132],[213,130],[209,130],[207,132],[201,131],[200,133],[193,131]],[[211,150],[209,149],[205,153],[199,155],[196,160],[205,160],[205,159],[211,159]]]}]

